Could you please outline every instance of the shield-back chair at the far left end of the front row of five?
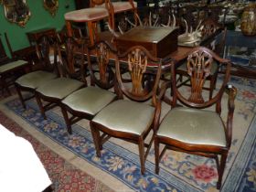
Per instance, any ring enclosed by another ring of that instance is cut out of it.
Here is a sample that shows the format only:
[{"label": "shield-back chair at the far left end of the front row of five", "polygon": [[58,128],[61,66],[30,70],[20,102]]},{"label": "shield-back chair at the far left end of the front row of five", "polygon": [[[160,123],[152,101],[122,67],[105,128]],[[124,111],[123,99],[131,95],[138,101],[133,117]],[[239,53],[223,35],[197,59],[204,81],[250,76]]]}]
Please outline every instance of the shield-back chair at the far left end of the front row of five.
[{"label": "shield-back chair at the far left end of the front row of five", "polygon": [[[31,71],[15,81],[16,91],[24,108],[25,101],[35,97],[38,87],[58,77],[57,69],[57,37],[42,36],[36,42],[37,60],[35,61],[34,71]],[[24,96],[22,91],[32,94]]]}]

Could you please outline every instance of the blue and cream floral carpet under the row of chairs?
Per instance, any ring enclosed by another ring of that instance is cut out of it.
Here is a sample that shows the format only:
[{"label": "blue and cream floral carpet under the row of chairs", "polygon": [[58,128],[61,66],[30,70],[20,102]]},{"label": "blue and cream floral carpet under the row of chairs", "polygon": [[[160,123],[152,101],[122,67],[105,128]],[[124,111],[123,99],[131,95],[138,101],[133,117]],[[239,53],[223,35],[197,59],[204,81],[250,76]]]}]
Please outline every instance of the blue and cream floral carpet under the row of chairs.
[{"label": "blue and cream floral carpet under the row of chairs", "polygon": [[[256,81],[234,78],[230,82],[239,92],[232,146],[221,191],[256,191]],[[223,102],[226,105],[227,98]],[[9,112],[8,116],[12,116],[12,119],[15,116],[16,121],[27,123],[27,126],[59,144],[61,149],[68,150],[74,155],[69,158],[73,165],[76,165],[73,158],[80,158],[78,165],[81,170],[91,173],[91,167],[94,167],[91,175],[115,191],[217,191],[218,175],[212,159],[168,151],[157,176],[154,173],[154,150],[151,150],[146,162],[146,174],[141,176],[136,146],[112,139],[103,145],[101,158],[98,158],[91,142],[88,122],[76,124],[74,133],[69,135],[58,111],[48,112],[48,120],[43,120],[35,101],[29,101],[27,105],[27,110],[23,110],[20,102],[14,98],[6,100],[1,108]],[[68,155],[62,156],[66,158]],[[118,187],[115,186],[120,183]]]}]

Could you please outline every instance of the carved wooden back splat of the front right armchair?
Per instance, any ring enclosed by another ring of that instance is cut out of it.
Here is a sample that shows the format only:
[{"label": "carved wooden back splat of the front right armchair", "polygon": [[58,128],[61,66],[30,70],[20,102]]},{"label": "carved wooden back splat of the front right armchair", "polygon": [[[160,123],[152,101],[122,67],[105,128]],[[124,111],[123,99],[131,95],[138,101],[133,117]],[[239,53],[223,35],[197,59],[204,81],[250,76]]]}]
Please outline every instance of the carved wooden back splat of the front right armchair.
[{"label": "carved wooden back splat of the front right armchair", "polygon": [[205,80],[210,74],[212,57],[205,51],[198,50],[187,58],[187,74],[191,80],[191,95],[188,101],[204,102],[202,89]]}]

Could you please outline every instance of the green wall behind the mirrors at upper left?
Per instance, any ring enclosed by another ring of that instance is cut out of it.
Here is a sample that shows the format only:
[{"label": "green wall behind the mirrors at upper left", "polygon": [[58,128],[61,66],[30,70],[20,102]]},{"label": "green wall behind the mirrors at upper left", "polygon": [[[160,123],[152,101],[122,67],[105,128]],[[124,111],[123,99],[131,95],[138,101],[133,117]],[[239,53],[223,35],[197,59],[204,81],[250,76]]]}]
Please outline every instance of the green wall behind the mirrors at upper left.
[{"label": "green wall behind the mirrors at upper left", "polygon": [[[64,14],[75,9],[73,0],[59,0],[58,12],[56,16],[51,16],[44,8],[43,0],[27,0],[27,5],[29,6],[31,17],[25,27],[19,27],[16,24],[8,22],[5,19],[4,7],[0,5],[0,34],[8,56],[10,56],[10,53],[5,43],[5,32],[7,33],[13,50],[26,48],[29,46],[26,35],[27,31],[45,27],[55,27],[57,30],[60,30],[65,25]],[[69,5],[69,7],[66,7],[67,5]]]}]

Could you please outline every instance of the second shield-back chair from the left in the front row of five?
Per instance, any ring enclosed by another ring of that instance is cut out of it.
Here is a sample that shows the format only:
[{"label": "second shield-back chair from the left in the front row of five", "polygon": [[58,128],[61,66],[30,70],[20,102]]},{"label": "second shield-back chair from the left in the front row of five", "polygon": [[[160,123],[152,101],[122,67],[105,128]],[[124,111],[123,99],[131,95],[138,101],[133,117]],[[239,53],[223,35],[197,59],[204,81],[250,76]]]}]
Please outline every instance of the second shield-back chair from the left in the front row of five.
[{"label": "second shield-back chair from the left in the front row of five", "polygon": [[[48,110],[56,106],[61,106],[61,101],[69,94],[87,86],[85,79],[86,63],[84,59],[85,39],[67,37],[64,47],[64,50],[61,49],[62,46],[57,47],[60,77],[54,80],[49,80],[36,90],[37,104],[45,119],[47,118],[46,112]],[[62,57],[63,55],[65,58]],[[80,65],[80,69],[72,72],[68,67],[70,65]]]}]

